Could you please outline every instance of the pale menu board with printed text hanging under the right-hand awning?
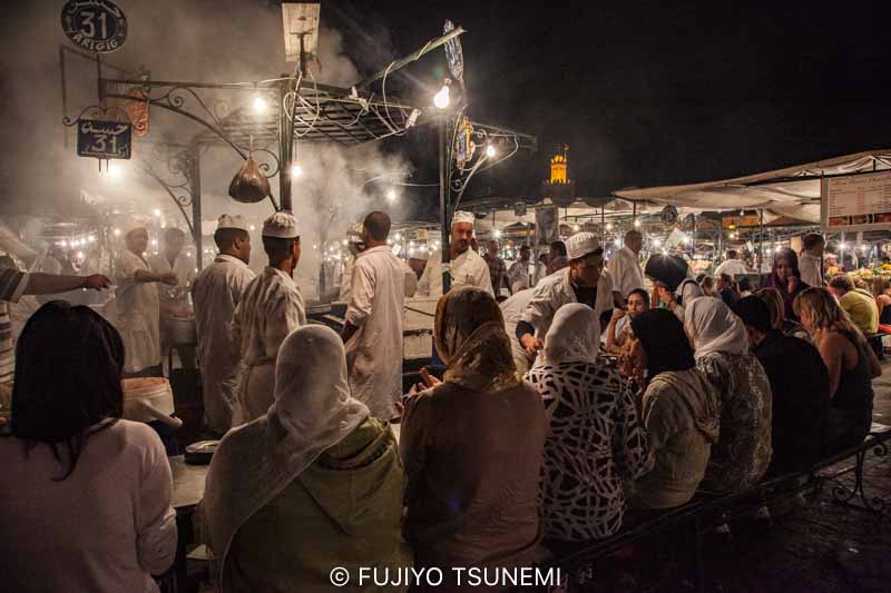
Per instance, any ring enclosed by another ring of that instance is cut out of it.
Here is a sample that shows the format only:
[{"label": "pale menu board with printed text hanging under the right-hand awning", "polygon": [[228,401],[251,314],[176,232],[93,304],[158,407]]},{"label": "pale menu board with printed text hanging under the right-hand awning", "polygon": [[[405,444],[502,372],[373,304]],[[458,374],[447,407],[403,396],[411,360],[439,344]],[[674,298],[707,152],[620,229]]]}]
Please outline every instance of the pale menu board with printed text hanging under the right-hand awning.
[{"label": "pale menu board with printed text hanging under the right-hand awning", "polygon": [[891,229],[891,171],[823,179],[821,200],[824,230]]}]

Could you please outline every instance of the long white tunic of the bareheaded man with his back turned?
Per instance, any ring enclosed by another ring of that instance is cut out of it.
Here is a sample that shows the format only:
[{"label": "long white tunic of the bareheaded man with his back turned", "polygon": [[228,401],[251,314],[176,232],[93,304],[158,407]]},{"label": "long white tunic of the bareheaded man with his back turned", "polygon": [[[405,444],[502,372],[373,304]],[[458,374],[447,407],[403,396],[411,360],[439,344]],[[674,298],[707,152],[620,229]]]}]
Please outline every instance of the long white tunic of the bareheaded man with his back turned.
[{"label": "long white tunic of the bareheaded man with his back turned", "polygon": [[359,327],[346,343],[353,397],[382,421],[398,415],[402,396],[402,316],[405,268],[389,247],[356,257],[346,322]]}]

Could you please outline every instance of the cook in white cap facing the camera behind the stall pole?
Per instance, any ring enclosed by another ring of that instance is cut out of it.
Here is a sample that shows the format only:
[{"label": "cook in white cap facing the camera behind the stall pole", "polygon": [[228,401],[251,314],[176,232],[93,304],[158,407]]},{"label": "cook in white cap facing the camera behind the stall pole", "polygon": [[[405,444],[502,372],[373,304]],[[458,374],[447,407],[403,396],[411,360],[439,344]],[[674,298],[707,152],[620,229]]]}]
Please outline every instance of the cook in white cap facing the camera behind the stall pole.
[{"label": "cook in white cap facing the camera behind the stall pole", "polygon": [[[471,213],[457,211],[452,217],[452,233],[449,241],[451,261],[449,273],[452,288],[457,286],[476,286],[492,294],[492,280],[486,260],[470,248],[473,238],[473,220]],[[442,253],[437,249],[430,254],[424,273],[418,281],[415,296],[442,296]],[[495,296],[495,295],[492,295]]]}]

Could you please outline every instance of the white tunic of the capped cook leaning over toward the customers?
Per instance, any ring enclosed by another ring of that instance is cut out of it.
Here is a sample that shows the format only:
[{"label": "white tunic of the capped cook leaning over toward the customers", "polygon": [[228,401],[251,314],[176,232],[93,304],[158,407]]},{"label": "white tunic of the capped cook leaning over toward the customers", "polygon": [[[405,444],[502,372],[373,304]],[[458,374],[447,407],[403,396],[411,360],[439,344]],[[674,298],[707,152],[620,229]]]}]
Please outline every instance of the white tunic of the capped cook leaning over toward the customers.
[{"label": "white tunic of the capped cook leaning over toward the customers", "polygon": [[[568,303],[578,303],[576,291],[569,280],[571,268],[566,267],[557,270],[550,276],[541,279],[536,286],[532,298],[522,314],[522,320],[536,328],[536,337],[545,340],[545,336],[550,329],[554,314],[557,309]],[[597,303],[595,313],[599,317],[603,313],[613,308],[613,281],[607,270],[600,273],[600,280],[597,283]],[[600,336],[597,336],[599,342]],[[544,350],[539,353],[544,359]]]}]

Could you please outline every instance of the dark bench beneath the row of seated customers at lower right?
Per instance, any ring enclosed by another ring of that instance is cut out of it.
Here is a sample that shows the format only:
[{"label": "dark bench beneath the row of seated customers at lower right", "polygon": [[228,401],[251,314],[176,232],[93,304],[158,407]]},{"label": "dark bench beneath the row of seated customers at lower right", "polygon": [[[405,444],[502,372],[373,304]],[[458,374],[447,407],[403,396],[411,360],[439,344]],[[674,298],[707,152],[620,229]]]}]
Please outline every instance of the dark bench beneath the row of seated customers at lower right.
[{"label": "dark bench beneath the row of seated customers at lower right", "polygon": [[[594,567],[599,561],[615,555],[630,544],[642,542],[669,530],[688,530],[693,542],[691,550],[693,576],[697,590],[704,591],[703,526],[708,527],[713,524],[723,523],[734,515],[751,515],[756,508],[770,502],[797,495],[804,490],[820,488],[824,482],[838,481],[839,477],[851,472],[854,472],[854,486],[849,488],[841,484],[835,485],[832,491],[833,500],[852,508],[881,513],[888,503],[879,497],[869,497],[864,492],[863,464],[870,451],[879,457],[887,455],[889,441],[891,441],[891,426],[873,423],[869,435],[859,446],[826,457],[806,472],[776,476],[734,494],[697,493],[685,505],[654,514],[645,520],[631,518],[617,534],[604,540],[579,543],[577,550],[564,554],[561,557],[541,562],[540,567],[545,570],[559,567],[564,577],[585,573],[594,574]],[[854,465],[840,471],[830,471],[832,466],[851,457],[855,458]],[[862,505],[852,502],[856,496],[862,500]],[[538,587],[522,591],[550,593],[557,590],[555,587]]]}]

